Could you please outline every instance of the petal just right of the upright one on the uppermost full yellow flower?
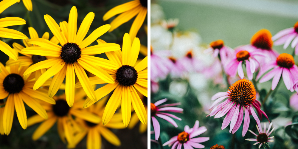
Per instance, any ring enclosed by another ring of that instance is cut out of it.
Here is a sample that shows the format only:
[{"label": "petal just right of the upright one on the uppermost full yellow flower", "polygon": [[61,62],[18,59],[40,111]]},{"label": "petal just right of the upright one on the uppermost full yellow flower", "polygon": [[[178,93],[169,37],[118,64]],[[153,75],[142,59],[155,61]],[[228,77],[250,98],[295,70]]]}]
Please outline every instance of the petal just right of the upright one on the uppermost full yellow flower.
[{"label": "petal just right of the upright one on the uppermost full yellow flower", "polygon": [[84,18],[79,30],[77,31],[77,35],[76,35],[76,38],[75,38],[75,43],[77,44],[80,44],[84,37],[86,36],[89,28],[90,28],[90,25],[92,23],[94,19],[94,13],[93,12],[90,12],[86,15],[86,17]]}]

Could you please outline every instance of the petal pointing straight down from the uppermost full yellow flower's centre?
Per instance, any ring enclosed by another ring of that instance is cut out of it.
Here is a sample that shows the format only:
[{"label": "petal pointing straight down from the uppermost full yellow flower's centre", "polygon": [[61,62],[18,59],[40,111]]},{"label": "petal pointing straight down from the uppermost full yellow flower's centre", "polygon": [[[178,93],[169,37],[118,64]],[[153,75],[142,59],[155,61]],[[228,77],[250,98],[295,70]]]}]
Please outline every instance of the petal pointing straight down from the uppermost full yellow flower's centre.
[{"label": "petal pointing straight down from the uppermost full yellow flower's centre", "polygon": [[75,69],[72,64],[66,64],[65,96],[69,107],[72,107],[75,99]]}]

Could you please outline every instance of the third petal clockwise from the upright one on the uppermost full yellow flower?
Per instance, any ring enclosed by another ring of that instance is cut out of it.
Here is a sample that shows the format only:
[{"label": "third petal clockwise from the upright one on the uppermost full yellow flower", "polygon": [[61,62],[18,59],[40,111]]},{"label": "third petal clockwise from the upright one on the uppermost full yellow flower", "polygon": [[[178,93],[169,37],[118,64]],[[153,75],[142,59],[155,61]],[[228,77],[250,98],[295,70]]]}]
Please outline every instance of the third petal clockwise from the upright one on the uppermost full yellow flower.
[{"label": "third petal clockwise from the upright one on the uppermost full yellow flower", "polygon": [[98,27],[96,30],[94,30],[87,38],[85,38],[80,44],[79,47],[81,49],[85,48],[86,46],[89,46],[93,41],[95,41],[98,37],[103,35],[105,32],[107,32],[111,28],[110,24],[105,24],[101,27]]}]

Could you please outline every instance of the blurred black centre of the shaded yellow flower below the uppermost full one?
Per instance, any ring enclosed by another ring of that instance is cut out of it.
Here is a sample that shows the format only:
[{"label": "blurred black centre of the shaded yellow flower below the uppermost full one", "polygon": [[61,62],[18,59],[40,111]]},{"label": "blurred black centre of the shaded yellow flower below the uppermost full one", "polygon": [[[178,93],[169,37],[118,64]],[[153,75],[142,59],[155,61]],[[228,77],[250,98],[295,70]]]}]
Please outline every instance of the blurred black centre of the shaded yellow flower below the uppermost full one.
[{"label": "blurred black centre of the shaded yellow flower below the uppermost full one", "polygon": [[70,109],[67,102],[63,99],[57,100],[56,104],[52,105],[52,108],[53,108],[54,114],[58,117],[66,116],[69,112],[69,109]]}]

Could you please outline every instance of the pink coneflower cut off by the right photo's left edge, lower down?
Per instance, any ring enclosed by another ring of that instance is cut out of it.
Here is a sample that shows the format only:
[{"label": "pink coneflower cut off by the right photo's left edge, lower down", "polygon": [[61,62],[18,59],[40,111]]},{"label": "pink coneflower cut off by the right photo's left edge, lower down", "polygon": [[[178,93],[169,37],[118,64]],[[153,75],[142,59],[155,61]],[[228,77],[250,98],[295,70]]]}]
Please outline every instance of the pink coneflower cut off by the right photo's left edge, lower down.
[{"label": "pink coneflower cut off by the right photo's left edge, lower down", "polygon": [[153,123],[154,133],[155,133],[155,139],[158,140],[159,134],[160,134],[160,125],[159,122],[155,117],[160,117],[162,119],[165,119],[166,121],[170,122],[172,125],[174,125],[176,128],[178,127],[177,123],[171,118],[178,119],[181,121],[181,118],[176,117],[173,114],[164,113],[164,112],[176,112],[176,113],[182,113],[183,109],[178,107],[172,107],[176,105],[181,105],[181,103],[169,103],[160,105],[164,102],[166,102],[167,99],[162,99],[159,101],[156,101],[155,103],[150,103],[150,116]]}]

